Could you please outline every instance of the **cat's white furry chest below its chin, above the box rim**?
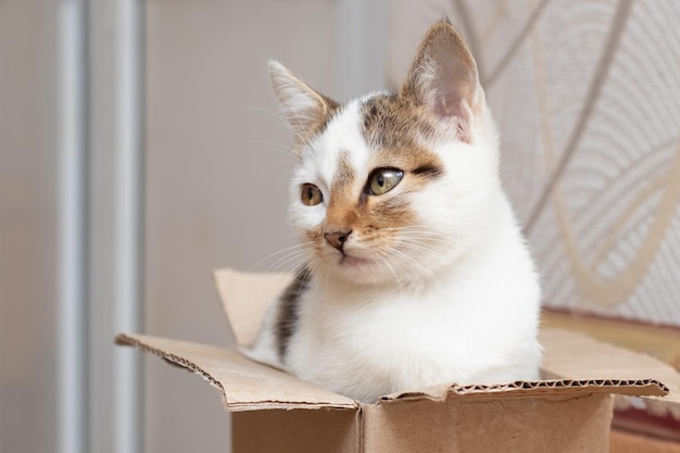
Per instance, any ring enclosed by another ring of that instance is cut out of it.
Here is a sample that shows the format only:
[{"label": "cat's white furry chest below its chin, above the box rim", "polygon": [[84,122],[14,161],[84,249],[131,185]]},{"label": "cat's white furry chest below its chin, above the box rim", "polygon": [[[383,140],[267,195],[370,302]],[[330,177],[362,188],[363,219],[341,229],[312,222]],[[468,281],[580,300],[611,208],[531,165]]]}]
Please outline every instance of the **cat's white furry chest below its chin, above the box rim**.
[{"label": "cat's white furry chest below its chin, above the box rim", "polygon": [[364,294],[312,288],[301,301],[290,369],[354,395],[368,391],[366,382],[379,395],[482,381],[532,331],[515,319],[506,290],[482,279]]}]

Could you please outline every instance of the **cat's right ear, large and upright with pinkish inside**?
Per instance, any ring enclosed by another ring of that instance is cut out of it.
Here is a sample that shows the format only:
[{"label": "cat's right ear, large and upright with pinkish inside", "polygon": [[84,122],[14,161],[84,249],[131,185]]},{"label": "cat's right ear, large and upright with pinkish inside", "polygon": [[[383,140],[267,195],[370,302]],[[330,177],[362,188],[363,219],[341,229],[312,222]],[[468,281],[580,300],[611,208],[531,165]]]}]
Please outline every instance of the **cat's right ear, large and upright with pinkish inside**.
[{"label": "cat's right ear, large and upright with pinkish inside", "polygon": [[484,92],[475,59],[450,22],[435,24],[423,38],[402,95],[455,127],[461,140],[473,141],[481,125]]}]

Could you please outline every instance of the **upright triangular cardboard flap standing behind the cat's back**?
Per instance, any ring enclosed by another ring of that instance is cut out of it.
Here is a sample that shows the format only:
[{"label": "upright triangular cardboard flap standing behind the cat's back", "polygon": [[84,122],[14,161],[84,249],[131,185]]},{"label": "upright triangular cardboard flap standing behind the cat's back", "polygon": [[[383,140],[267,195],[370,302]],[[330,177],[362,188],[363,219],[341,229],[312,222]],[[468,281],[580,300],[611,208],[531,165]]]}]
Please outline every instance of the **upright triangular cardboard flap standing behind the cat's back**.
[{"label": "upright triangular cardboard flap standing behind the cat's back", "polygon": [[292,274],[255,274],[229,268],[213,274],[222,307],[236,342],[250,347],[272,301],[292,280]]}]

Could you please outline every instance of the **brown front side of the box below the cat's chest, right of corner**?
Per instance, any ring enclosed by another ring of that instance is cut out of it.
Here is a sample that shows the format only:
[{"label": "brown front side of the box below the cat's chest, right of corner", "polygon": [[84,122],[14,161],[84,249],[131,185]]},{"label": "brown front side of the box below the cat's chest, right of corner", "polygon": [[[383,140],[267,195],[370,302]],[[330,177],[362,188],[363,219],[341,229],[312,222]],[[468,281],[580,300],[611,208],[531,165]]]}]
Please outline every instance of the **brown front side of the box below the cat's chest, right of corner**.
[{"label": "brown front side of the box below the cat's chest, right of corner", "polygon": [[420,400],[365,407],[364,452],[606,453],[612,398]]}]

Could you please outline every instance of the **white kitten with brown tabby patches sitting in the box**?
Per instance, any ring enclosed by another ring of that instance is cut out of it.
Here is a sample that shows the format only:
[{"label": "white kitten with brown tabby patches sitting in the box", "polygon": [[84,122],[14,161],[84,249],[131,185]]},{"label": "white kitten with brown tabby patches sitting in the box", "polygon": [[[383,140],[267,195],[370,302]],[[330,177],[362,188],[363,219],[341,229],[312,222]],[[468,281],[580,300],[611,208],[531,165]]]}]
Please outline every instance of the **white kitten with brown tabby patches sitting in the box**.
[{"label": "white kitten with brown tabby patches sitting in the box", "polygon": [[304,267],[250,357],[372,403],[539,378],[540,286],[502,189],[475,60],[449,21],[396,92],[340,104],[276,61]]}]

